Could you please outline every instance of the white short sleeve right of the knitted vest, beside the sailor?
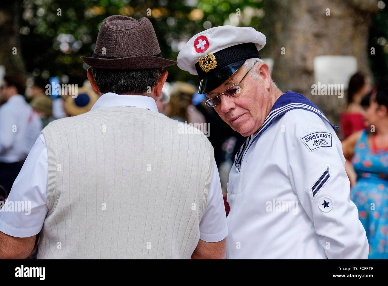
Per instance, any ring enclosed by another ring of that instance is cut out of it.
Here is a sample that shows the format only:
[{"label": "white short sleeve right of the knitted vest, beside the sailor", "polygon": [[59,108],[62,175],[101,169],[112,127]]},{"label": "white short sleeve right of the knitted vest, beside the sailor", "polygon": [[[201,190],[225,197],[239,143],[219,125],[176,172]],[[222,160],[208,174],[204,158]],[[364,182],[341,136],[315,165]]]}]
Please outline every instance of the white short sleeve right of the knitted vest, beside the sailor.
[{"label": "white short sleeve right of the knitted vest, beside the sailor", "polygon": [[208,197],[208,207],[199,223],[199,239],[206,242],[218,242],[228,234],[225,205],[222,197],[220,175],[214,161],[213,178]]}]

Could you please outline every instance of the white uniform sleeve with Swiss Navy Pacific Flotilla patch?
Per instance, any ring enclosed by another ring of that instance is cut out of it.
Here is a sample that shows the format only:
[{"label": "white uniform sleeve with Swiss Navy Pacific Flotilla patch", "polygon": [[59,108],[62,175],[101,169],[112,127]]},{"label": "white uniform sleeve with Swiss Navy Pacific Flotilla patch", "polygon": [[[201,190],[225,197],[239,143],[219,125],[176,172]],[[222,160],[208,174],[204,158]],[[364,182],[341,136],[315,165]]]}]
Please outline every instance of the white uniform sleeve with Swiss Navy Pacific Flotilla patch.
[{"label": "white uniform sleeve with Swiss Navy Pacific Flotilla patch", "polygon": [[367,259],[369,245],[349,198],[341,142],[319,116],[310,111],[302,114],[290,118],[294,123],[285,132],[291,185],[314,222],[327,258]]}]

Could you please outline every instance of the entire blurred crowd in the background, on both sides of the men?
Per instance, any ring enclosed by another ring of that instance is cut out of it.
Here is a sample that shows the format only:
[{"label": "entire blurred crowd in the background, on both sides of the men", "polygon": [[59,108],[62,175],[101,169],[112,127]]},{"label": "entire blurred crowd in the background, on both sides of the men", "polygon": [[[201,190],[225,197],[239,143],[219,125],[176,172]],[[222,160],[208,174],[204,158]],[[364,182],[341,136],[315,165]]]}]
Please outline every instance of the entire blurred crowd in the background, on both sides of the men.
[{"label": "entire blurred crowd in the background, on both sides of the men", "polygon": [[[31,82],[31,81],[30,81]],[[35,78],[26,88],[23,75],[6,75],[0,87],[0,201],[5,201],[29,150],[49,122],[90,111],[98,96],[85,81],[76,96],[52,95],[49,80]],[[205,128],[214,147],[224,195],[234,154],[246,140],[204,104],[204,95],[188,82],[165,83],[156,104],[166,116]],[[346,107],[340,114],[345,170],[367,232],[369,258],[388,259],[388,81],[372,86],[361,72],[348,85]],[[10,130],[9,122],[13,129]],[[211,129],[210,129],[211,127]],[[204,132],[204,130],[201,130]]]}]

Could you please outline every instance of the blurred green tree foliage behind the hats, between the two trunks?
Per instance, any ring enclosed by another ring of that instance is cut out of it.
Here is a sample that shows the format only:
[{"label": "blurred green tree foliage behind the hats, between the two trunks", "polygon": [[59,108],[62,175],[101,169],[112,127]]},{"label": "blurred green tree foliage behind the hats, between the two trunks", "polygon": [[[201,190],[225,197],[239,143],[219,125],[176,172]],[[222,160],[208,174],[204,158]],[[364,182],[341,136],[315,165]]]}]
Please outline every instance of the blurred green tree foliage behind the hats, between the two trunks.
[{"label": "blurred green tree foliage behind the hats, between the two trunks", "polygon": [[[261,0],[26,0],[20,29],[26,70],[43,77],[68,75],[81,84],[86,66],[80,56],[92,55],[100,24],[110,15],[149,18],[163,57],[176,60],[185,42],[206,28],[232,23],[259,29],[263,5]],[[197,80],[177,66],[168,71],[169,81]]]}]

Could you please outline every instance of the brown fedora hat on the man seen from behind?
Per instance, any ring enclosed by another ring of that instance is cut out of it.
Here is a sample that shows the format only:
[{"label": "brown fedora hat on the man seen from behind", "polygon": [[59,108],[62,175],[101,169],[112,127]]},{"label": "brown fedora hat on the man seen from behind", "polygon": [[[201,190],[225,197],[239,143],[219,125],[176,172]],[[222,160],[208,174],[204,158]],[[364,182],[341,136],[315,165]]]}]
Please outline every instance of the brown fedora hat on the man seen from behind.
[{"label": "brown fedora hat on the man seen from behind", "polygon": [[149,19],[139,21],[113,15],[104,19],[93,56],[81,59],[95,68],[117,70],[161,68],[177,64],[162,58],[158,39]]}]

